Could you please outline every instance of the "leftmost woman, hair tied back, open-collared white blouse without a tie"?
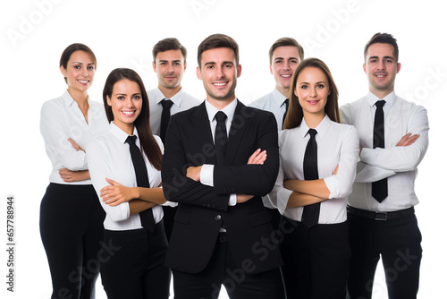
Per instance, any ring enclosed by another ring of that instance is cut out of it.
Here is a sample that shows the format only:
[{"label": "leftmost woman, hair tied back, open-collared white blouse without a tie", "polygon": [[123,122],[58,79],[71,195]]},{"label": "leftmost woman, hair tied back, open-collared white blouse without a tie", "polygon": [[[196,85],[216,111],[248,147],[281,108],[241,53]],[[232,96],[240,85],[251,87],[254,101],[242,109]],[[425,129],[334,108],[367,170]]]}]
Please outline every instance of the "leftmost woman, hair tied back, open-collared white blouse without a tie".
[{"label": "leftmost woman, hair tied back, open-collared white blouse without a tie", "polygon": [[97,252],[105,218],[89,179],[87,143],[105,132],[100,103],[88,95],[97,68],[91,49],[66,47],[60,59],[67,90],[41,109],[40,132],[53,165],[40,205],[40,235],[53,282],[52,298],[94,297]]}]

